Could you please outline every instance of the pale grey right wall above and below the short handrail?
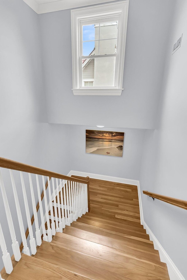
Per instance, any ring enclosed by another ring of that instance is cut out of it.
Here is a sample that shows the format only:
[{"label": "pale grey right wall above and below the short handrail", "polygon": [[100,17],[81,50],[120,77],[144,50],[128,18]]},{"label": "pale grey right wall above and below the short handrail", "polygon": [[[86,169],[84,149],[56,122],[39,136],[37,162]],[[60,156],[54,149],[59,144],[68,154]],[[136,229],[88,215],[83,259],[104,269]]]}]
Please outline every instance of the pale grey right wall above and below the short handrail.
[{"label": "pale grey right wall above and below the short handrail", "polygon": [[[162,87],[160,128],[146,132],[140,185],[142,190],[187,200],[187,2],[176,1]],[[174,43],[183,33],[181,47]],[[187,279],[187,213],[142,195],[144,219],[169,257]]]}]

